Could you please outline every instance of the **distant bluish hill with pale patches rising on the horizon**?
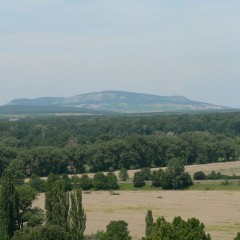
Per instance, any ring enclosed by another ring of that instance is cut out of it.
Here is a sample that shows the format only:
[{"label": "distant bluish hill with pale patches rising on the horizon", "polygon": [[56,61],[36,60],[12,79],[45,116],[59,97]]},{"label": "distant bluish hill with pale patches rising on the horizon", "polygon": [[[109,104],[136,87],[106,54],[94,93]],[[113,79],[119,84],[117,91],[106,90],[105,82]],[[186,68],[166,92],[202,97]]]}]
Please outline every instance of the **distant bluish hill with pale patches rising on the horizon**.
[{"label": "distant bluish hill with pale patches rising on the horizon", "polygon": [[124,91],[103,91],[69,98],[15,99],[8,105],[78,107],[125,113],[224,110],[226,107],[196,102],[183,96],[158,96]]}]

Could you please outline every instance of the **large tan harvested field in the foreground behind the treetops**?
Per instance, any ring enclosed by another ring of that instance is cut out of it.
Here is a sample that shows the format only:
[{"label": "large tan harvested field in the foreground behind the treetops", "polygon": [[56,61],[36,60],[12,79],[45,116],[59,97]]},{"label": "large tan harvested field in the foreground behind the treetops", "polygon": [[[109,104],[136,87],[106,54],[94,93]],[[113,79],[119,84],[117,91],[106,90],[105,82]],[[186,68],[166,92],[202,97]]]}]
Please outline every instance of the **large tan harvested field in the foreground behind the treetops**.
[{"label": "large tan harvested field in the foreground behind the treetops", "polygon": [[[120,191],[110,195],[106,191],[83,194],[87,213],[86,234],[104,230],[111,220],[123,219],[129,223],[134,240],[144,236],[145,215],[152,209],[156,217],[171,221],[174,216],[183,219],[196,217],[202,221],[212,240],[232,240],[240,231],[239,191]],[[35,206],[44,208],[44,194]]]}]

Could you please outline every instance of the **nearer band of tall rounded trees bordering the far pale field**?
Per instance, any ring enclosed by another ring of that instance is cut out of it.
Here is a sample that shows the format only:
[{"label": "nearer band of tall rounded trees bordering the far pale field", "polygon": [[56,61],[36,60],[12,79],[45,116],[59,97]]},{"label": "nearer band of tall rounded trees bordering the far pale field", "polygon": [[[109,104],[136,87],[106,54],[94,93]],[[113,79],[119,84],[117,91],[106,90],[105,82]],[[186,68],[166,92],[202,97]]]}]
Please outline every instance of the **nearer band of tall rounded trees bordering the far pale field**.
[{"label": "nearer band of tall rounded trees bordering the far pale field", "polygon": [[166,166],[171,158],[185,164],[236,160],[237,140],[208,132],[130,136],[65,148],[17,149],[0,144],[0,175],[7,166],[23,176],[84,173]]}]

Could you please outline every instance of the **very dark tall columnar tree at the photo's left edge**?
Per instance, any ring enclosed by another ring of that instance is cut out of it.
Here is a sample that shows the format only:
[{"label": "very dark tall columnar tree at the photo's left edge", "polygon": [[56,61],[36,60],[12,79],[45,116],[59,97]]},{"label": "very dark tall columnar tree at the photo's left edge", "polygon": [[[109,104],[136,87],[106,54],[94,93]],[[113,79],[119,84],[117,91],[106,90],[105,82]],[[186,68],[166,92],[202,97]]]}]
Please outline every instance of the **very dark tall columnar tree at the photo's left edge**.
[{"label": "very dark tall columnar tree at the photo's left edge", "polygon": [[19,200],[14,186],[13,173],[6,170],[0,189],[0,239],[9,240],[17,230]]}]

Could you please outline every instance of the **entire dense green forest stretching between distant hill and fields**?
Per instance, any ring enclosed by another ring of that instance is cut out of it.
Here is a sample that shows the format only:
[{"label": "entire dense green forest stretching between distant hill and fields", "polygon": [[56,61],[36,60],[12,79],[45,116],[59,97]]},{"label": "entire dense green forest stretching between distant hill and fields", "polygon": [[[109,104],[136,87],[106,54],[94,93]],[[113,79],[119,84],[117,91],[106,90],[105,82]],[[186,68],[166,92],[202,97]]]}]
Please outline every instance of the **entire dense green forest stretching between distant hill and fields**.
[{"label": "entire dense green forest stretching between distant hill and fields", "polygon": [[239,159],[240,113],[0,120],[0,175],[80,173]]}]

